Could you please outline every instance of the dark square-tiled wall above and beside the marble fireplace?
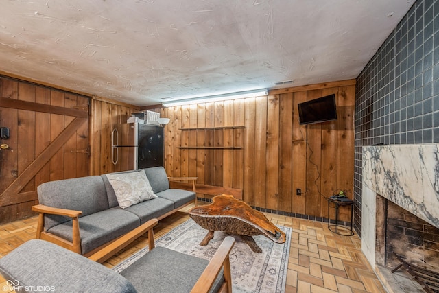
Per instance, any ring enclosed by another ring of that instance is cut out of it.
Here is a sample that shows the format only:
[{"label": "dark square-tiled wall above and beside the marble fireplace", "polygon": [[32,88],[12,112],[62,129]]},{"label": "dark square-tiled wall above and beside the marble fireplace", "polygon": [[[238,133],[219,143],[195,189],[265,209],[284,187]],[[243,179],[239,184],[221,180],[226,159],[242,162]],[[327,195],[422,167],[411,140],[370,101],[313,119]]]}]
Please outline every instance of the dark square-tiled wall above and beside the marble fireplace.
[{"label": "dark square-tiled wall above and beside the marble fireplace", "polygon": [[361,236],[361,147],[439,143],[439,1],[417,0],[357,78],[354,228]]}]

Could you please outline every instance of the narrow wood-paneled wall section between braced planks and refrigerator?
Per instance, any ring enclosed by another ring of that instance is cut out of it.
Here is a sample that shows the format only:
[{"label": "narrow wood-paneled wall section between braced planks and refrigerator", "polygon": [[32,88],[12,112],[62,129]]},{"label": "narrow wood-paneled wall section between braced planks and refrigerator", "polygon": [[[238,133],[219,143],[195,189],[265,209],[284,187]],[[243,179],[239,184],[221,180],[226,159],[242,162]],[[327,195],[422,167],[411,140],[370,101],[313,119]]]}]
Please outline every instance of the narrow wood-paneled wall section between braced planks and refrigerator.
[{"label": "narrow wood-paneled wall section between braced planks and refrigerator", "polygon": [[[93,97],[91,109],[91,175],[121,171],[112,164],[111,132],[117,124],[126,123],[131,113],[139,112],[139,108]],[[128,165],[128,162],[126,163]],[[128,169],[128,167],[124,169]]]}]

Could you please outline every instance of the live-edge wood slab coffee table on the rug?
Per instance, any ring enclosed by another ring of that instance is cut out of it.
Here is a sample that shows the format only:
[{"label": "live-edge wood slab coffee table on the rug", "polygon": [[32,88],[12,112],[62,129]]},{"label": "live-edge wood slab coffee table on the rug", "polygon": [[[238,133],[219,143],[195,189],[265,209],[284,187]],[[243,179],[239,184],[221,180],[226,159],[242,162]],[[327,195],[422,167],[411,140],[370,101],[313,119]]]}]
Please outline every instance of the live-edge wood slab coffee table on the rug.
[{"label": "live-edge wood slab coffee table on the rug", "polygon": [[261,253],[262,250],[252,236],[264,235],[276,243],[285,242],[285,233],[245,202],[226,194],[215,196],[212,200],[211,204],[189,210],[189,216],[202,228],[209,230],[200,245],[207,245],[215,231],[240,235],[255,253]]}]

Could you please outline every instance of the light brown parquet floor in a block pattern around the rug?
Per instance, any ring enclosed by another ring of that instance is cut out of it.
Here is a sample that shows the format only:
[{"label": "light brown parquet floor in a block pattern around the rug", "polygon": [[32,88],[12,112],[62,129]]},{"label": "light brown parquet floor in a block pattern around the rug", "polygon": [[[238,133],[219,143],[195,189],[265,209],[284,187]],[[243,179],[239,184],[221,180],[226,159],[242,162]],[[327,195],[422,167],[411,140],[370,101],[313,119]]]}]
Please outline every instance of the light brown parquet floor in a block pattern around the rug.
[{"label": "light brown parquet floor in a block pattern around the rug", "polygon": [[[182,209],[154,228],[156,239],[189,219]],[[293,228],[285,292],[386,292],[366,257],[361,253],[357,235],[348,237],[332,233],[327,224],[265,213],[274,224]],[[0,225],[0,257],[16,246],[33,239],[36,217]],[[146,237],[139,237],[126,249],[104,263],[112,268],[120,261],[147,245]],[[1,288],[6,280],[0,276]]]}]

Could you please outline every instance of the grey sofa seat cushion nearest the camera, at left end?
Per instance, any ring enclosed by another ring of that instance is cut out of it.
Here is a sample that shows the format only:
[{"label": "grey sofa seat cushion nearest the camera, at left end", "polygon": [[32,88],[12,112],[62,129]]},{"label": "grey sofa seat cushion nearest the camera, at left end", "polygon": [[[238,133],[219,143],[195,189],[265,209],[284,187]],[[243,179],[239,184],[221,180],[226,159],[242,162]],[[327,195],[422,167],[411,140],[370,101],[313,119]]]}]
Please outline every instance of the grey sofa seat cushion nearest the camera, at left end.
[{"label": "grey sofa seat cushion nearest the camera, at left end", "polygon": [[[79,219],[81,234],[81,253],[110,242],[132,231],[140,225],[137,215],[119,207],[99,211]],[[72,222],[65,222],[52,227],[47,232],[72,241]]]}]

